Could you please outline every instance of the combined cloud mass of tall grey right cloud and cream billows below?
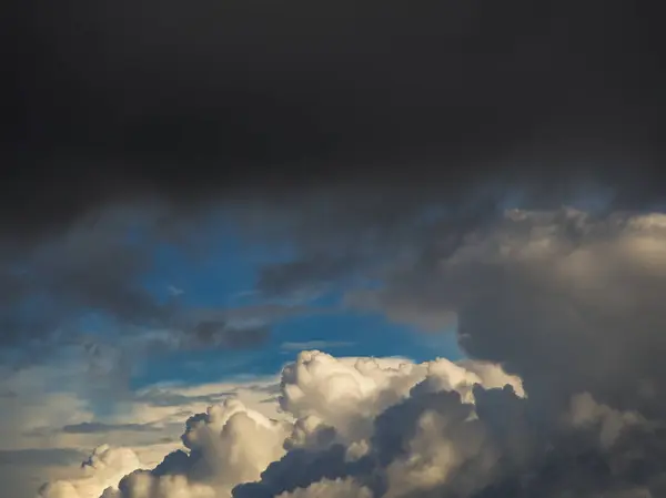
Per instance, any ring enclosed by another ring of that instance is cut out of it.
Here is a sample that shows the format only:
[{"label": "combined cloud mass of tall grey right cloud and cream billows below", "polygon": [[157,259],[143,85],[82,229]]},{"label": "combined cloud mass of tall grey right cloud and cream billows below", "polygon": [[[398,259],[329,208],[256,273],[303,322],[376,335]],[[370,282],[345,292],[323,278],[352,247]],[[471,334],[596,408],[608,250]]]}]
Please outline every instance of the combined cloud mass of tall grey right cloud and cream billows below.
[{"label": "combined cloud mass of tall grey right cloud and cream billows below", "polygon": [[473,359],[303,352],[279,421],[212,407],[188,451],[104,498],[663,496],[664,220],[513,210],[454,246],[435,231],[347,302],[453,322]]}]

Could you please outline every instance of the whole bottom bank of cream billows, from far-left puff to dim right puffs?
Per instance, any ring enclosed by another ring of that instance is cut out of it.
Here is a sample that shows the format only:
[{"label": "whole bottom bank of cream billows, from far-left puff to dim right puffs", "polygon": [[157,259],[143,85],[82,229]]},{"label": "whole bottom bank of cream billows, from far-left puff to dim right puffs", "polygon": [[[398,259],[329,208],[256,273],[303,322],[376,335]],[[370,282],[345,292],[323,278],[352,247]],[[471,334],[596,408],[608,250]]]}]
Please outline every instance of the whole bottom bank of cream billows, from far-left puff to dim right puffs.
[{"label": "whole bottom bank of cream billows, from far-left puff to dim right puffs", "polygon": [[[105,469],[115,461],[117,472],[133,455],[108,457],[87,480],[49,485],[40,497],[93,496],[93,484],[103,498],[495,496],[483,492],[515,472],[543,478],[529,472],[557,466],[566,456],[559,451],[571,450],[544,446],[546,435],[585,438],[578,449],[604,458],[630,430],[648,429],[640,416],[586,393],[557,424],[539,427],[521,380],[483,362],[303,352],[284,368],[281,390],[281,421],[228,400],[191,417],[182,437],[188,451],[153,470],[102,491]],[[90,461],[110,451],[98,448]]]}]

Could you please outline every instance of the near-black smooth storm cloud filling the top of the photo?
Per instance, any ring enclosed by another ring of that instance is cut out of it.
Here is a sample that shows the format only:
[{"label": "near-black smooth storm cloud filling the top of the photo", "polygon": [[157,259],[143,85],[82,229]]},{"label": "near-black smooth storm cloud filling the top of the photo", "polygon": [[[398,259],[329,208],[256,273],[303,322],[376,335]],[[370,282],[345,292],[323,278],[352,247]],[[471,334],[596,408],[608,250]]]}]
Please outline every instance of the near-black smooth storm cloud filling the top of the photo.
[{"label": "near-black smooth storm cloud filling the top of the photo", "polygon": [[[654,186],[659,27],[633,4],[32,3],[7,17],[6,236],[149,194]],[[620,153],[645,174],[598,164]]]}]

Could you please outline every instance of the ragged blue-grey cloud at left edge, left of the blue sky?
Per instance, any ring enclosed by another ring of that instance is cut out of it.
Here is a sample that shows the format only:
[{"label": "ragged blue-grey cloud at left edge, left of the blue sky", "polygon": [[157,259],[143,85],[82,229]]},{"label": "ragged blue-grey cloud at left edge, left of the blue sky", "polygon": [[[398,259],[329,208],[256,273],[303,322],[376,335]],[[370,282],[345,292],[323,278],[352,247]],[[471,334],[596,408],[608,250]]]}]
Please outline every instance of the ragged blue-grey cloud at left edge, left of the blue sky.
[{"label": "ragged blue-grey cloud at left edge, left of the blue sky", "polygon": [[131,213],[109,210],[94,226],[80,223],[42,245],[2,254],[0,287],[11,289],[0,305],[8,345],[57,331],[74,334],[77,321],[90,313],[131,325],[173,319],[173,306],[158,303],[141,283],[157,241],[129,240],[130,230],[142,225]]}]

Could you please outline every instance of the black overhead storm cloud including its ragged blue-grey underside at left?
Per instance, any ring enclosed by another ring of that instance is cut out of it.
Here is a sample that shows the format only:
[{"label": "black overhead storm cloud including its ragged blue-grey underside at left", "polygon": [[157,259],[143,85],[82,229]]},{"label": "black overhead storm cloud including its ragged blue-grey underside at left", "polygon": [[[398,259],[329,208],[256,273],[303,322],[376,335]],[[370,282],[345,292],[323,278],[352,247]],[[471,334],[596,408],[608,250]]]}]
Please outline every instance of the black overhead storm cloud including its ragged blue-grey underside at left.
[{"label": "black overhead storm cloud including its ragged blue-grey underside at left", "polygon": [[193,293],[147,292],[151,251],[201,250],[219,207],[264,238],[326,238],[262,272],[274,296],[379,258],[432,205],[517,190],[532,207],[572,192],[643,207],[666,185],[666,43],[647,7],[11,3],[0,341],[64,334],[91,308],[171,321]]}]

